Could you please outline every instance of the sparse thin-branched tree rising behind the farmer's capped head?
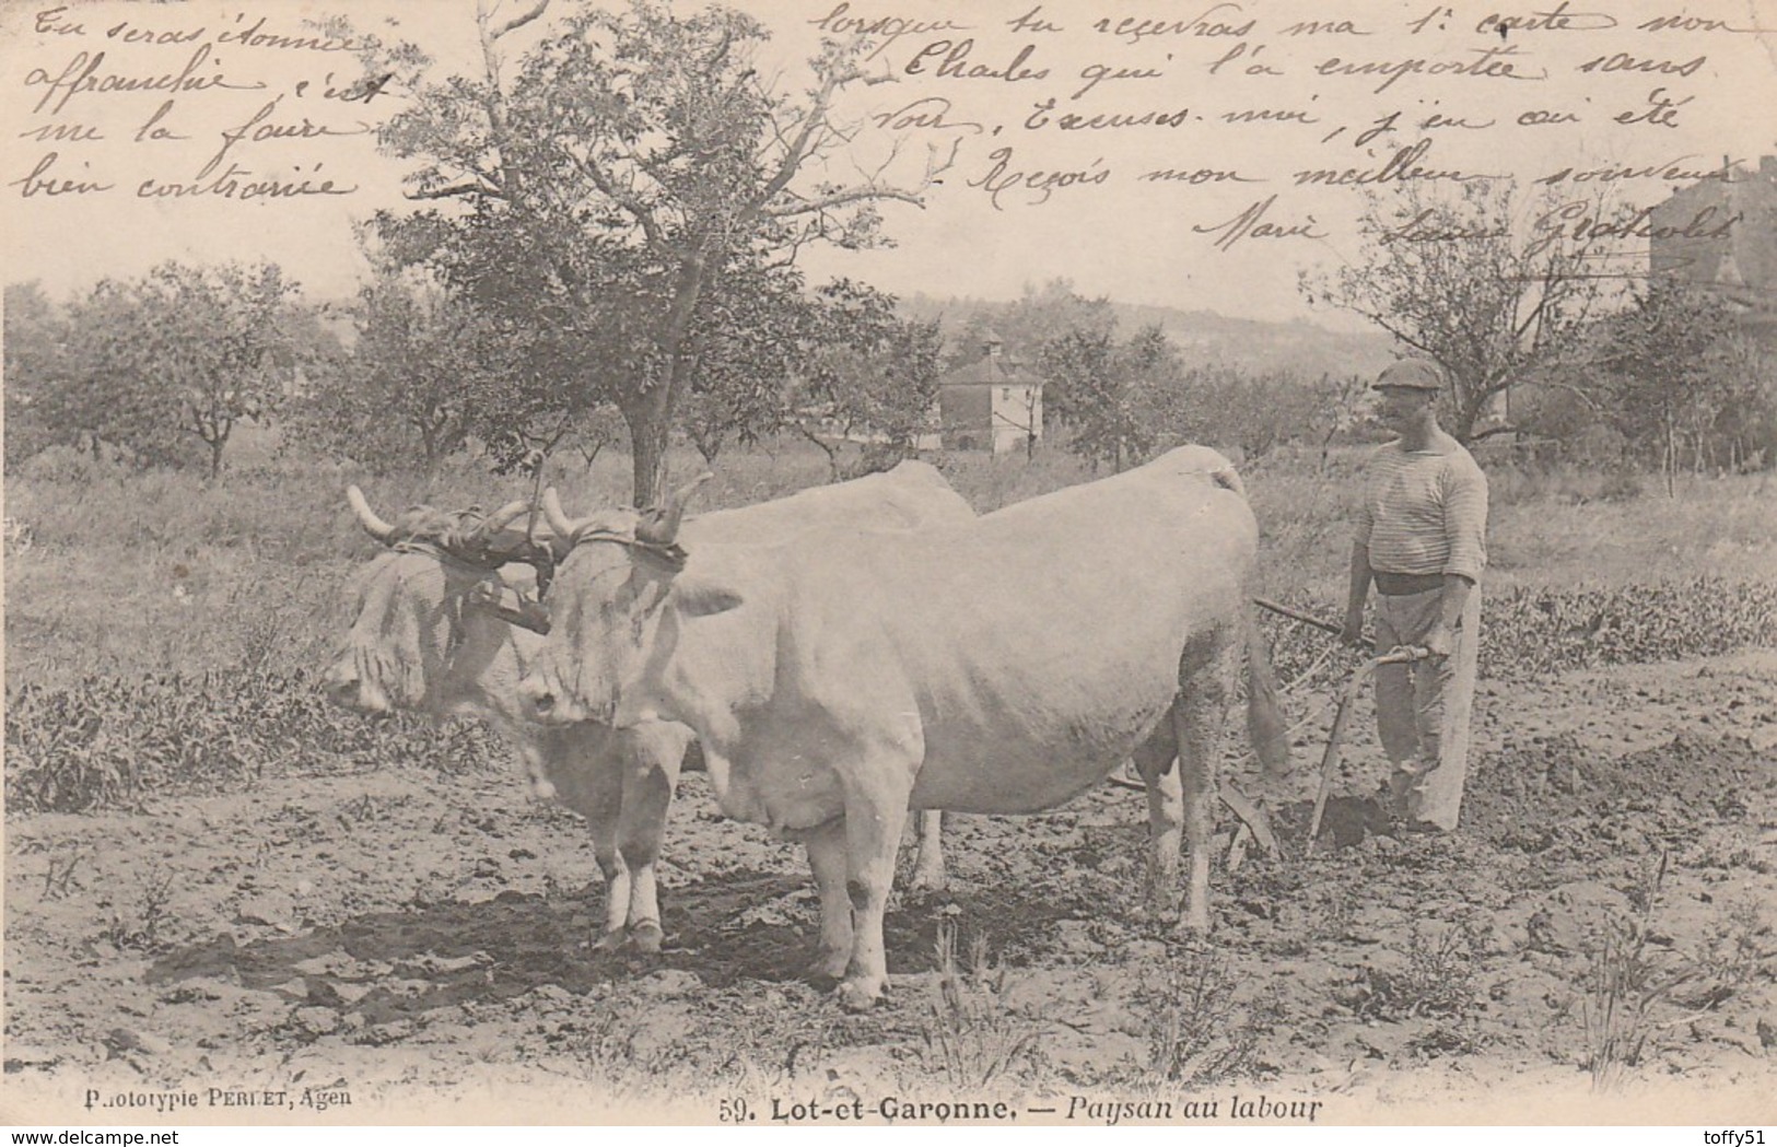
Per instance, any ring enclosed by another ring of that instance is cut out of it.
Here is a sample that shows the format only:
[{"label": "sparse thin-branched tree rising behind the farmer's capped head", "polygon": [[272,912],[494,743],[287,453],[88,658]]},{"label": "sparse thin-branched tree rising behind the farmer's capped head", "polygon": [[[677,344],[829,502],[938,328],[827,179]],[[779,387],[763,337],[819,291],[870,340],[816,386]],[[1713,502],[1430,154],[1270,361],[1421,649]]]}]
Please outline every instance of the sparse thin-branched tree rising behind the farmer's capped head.
[{"label": "sparse thin-branched tree rising behind the farmer's capped head", "polygon": [[1525,220],[1516,186],[1486,179],[1445,197],[1418,185],[1372,195],[1361,257],[1329,277],[1304,272],[1301,289],[1443,366],[1445,426],[1466,442],[1493,396],[1557,360],[1599,298],[1601,229],[1569,225],[1573,206],[1605,211],[1544,197]]}]

